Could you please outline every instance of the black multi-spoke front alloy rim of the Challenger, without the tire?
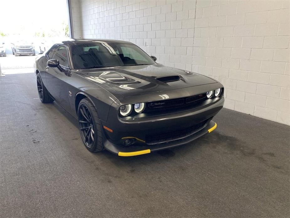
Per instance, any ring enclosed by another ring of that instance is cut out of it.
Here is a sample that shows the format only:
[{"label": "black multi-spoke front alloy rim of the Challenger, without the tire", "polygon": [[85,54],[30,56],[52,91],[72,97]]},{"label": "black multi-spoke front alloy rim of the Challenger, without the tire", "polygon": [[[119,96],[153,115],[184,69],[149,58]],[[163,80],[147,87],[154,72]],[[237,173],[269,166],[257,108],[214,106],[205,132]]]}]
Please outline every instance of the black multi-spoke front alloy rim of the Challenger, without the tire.
[{"label": "black multi-spoke front alloy rim of the Challenger, without the tire", "polygon": [[81,105],[79,107],[78,118],[82,140],[87,147],[91,148],[95,140],[95,131],[92,115],[87,106]]}]

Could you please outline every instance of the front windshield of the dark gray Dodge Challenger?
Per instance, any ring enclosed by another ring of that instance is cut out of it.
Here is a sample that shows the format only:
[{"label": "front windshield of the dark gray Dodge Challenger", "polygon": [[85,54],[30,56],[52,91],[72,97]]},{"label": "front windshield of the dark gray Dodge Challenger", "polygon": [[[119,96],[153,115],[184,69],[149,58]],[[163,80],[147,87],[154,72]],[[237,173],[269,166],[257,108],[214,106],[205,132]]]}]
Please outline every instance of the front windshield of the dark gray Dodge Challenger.
[{"label": "front windshield of the dark gray Dodge Challenger", "polygon": [[93,42],[72,46],[75,69],[155,64],[138,46],[126,43]]}]

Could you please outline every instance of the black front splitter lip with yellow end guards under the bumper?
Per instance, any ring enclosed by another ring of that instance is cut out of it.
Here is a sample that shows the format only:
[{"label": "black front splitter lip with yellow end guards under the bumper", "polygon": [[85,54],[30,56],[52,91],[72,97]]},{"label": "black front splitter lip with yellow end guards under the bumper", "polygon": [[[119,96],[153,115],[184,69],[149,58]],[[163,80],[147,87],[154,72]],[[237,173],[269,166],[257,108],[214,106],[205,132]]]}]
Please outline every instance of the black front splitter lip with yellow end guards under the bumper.
[{"label": "black front splitter lip with yellow end guards under the bumper", "polygon": [[177,147],[183,144],[188,144],[192,142],[193,140],[210,133],[214,131],[214,129],[217,127],[217,124],[213,121],[210,121],[203,129],[199,130],[198,132],[183,138],[183,139],[178,139],[162,144],[157,144],[157,145],[140,145],[140,146],[127,146],[127,147],[120,147],[118,145],[110,143],[108,140],[104,143],[104,147],[106,150],[119,155],[119,156],[136,156],[136,155],[143,155],[143,154],[148,154],[154,151],[159,151],[163,149],[168,149],[168,148],[173,148]]}]

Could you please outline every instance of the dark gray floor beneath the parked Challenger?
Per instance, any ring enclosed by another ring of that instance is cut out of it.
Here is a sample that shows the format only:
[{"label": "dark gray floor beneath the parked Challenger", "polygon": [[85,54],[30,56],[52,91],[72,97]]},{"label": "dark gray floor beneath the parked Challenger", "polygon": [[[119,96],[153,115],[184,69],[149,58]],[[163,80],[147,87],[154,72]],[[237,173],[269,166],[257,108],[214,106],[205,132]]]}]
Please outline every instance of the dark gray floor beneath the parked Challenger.
[{"label": "dark gray floor beneath the parked Challenger", "polygon": [[223,109],[191,144],[122,158],[87,151],[33,73],[1,77],[0,100],[1,217],[290,216],[289,126]]}]

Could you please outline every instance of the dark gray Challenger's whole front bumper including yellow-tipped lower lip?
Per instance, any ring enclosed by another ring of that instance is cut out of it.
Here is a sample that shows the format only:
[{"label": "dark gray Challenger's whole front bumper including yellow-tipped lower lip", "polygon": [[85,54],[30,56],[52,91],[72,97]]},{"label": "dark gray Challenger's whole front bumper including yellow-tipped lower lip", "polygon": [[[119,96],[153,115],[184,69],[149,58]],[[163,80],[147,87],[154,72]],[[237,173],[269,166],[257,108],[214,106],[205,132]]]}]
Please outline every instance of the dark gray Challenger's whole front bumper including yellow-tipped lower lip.
[{"label": "dark gray Challenger's whole front bumper including yellow-tipped lower lip", "polygon": [[[191,110],[125,121],[109,112],[107,122],[101,121],[104,147],[119,156],[134,156],[187,144],[215,129],[211,120],[223,105],[223,97],[208,99]],[[132,138],[134,144],[125,146]]]}]

